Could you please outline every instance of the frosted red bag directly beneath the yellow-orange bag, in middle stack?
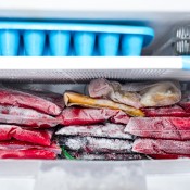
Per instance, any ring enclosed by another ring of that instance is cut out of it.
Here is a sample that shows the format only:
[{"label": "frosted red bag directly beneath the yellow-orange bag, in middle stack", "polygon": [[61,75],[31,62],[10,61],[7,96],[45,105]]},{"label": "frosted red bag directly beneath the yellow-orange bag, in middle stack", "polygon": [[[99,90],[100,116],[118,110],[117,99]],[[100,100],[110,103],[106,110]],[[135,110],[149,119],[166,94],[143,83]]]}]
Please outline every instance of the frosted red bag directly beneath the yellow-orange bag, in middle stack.
[{"label": "frosted red bag directly beneath the yellow-orange bag, in middle stack", "polygon": [[122,111],[107,109],[80,109],[67,107],[56,117],[62,125],[90,125],[104,123],[111,119],[113,123],[127,124],[129,116]]}]

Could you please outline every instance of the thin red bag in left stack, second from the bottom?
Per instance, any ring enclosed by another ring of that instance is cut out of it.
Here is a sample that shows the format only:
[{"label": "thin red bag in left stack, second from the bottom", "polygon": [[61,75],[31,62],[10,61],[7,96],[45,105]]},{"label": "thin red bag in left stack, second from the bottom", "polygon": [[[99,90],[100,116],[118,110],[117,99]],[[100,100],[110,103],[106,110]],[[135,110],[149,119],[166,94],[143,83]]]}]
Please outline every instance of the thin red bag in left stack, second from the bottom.
[{"label": "thin red bag in left stack, second from the bottom", "polygon": [[37,145],[29,142],[23,142],[18,140],[9,140],[9,141],[0,141],[0,150],[46,150],[50,152],[54,152],[55,154],[61,154],[60,147],[52,142],[50,145]]}]

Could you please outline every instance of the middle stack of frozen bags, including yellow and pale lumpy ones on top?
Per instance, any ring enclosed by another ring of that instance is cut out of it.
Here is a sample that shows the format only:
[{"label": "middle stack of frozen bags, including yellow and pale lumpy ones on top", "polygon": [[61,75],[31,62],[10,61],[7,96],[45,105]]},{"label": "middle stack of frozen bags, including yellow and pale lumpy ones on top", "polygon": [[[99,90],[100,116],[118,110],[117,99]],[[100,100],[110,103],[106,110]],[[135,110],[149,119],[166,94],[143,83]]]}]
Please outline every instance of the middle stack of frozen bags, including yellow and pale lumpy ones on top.
[{"label": "middle stack of frozen bags, including yellow and pale lumpy ones on top", "polygon": [[130,121],[145,116],[142,107],[168,106],[181,99],[179,84],[173,81],[122,86],[101,78],[89,84],[88,92],[64,93],[67,109],[58,117],[63,127],[56,136],[68,159],[144,159],[147,153],[134,149],[137,135],[127,131]]}]

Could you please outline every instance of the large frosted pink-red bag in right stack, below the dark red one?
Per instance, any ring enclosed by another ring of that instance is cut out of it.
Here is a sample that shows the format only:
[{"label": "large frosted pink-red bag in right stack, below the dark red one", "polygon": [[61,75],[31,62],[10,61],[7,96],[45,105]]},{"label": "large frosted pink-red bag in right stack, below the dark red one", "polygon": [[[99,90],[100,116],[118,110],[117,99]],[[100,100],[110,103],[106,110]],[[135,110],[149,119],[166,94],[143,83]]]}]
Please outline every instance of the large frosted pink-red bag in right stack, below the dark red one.
[{"label": "large frosted pink-red bag in right stack, below the dark red one", "polygon": [[132,117],[126,126],[125,131],[145,138],[190,140],[190,118]]}]

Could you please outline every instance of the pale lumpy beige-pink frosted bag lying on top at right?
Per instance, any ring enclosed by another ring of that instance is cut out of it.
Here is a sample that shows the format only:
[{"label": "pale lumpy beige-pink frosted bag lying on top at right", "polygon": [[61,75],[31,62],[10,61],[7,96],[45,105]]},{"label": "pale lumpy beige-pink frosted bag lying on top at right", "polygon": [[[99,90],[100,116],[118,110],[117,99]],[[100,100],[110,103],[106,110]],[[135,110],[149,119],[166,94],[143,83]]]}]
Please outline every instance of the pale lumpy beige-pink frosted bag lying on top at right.
[{"label": "pale lumpy beige-pink frosted bag lying on top at right", "polygon": [[107,98],[115,102],[134,107],[166,106],[180,101],[179,83],[130,83],[121,85],[106,79],[96,79],[89,85],[89,94],[92,98]]}]

